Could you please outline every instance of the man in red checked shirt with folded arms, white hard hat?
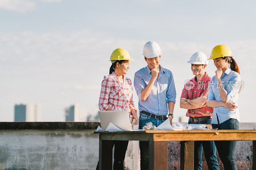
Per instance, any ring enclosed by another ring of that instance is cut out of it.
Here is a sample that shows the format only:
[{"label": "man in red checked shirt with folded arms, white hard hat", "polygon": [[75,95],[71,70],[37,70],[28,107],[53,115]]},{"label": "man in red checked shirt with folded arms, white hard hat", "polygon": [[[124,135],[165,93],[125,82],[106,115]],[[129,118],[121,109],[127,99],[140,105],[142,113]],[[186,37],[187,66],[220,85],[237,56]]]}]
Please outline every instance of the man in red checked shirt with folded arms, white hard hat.
[{"label": "man in red checked shirt with folded arms, white hard hat", "polygon": [[[207,57],[203,52],[196,52],[188,63],[195,77],[187,81],[182,90],[180,108],[188,109],[188,124],[211,124],[213,108],[206,105],[206,99],[212,78],[204,72]],[[202,169],[203,148],[208,169],[219,170],[214,141],[195,141],[194,169]]]}]

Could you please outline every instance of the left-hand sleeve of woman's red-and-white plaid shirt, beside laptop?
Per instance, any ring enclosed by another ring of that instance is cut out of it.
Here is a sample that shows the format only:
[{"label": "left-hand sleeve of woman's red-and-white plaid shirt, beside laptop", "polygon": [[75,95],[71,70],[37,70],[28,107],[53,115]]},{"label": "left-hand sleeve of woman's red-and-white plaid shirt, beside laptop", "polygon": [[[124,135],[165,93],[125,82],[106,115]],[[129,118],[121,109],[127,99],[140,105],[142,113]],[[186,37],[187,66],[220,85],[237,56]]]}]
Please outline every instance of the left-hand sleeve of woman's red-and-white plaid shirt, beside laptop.
[{"label": "left-hand sleeve of woman's red-and-white plaid shirt, beside laptop", "polygon": [[99,100],[99,109],[107,110],[108,109],[108,96],[110,93],[111,81],[108,76],[104,76],[103,81],[101,82],[100,90],[100,100]]}]

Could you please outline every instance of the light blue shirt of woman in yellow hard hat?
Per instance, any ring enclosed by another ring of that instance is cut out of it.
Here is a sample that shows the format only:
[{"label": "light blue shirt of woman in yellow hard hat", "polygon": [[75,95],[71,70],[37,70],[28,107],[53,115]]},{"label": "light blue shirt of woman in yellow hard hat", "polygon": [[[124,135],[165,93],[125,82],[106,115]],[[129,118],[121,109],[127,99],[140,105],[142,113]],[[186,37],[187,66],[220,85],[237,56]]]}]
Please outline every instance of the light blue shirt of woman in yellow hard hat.
[{"label": "light blue shirt of woman in yellow hard hat", "polygon": [[[238,92],[242,85],[240,74],[238,74],[235,71],[232,71],[231,68],[228,67],[228,69],[223,73],[221,81],[224,84],[224,88],[228,92],[227,101],[236,103],[236,106],[238,107]],[[220,97],[220,91],[218,88],[215,75],[212,77],[212,80],[209,84],[209,92],[206,102],[208,103],[210,100],[223,101],[222,98]],[[236,110],[229,110],[223,106],[213,108],[212,124],[218,124],[217,116],[220,124],[230,118],[237,119],[238,121],[240,121],[239,108],[237,108]]]}]

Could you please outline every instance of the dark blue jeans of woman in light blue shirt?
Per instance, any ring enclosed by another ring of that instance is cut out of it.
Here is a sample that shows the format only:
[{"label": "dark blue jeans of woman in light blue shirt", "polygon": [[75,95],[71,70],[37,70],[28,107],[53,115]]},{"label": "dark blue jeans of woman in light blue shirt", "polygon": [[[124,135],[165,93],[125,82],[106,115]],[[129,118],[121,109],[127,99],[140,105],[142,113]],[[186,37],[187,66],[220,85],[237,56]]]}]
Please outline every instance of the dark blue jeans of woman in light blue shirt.
[{"label": "dark blue jeans of woman in light blue shirt", "polygon": [[[219,119],[217,117],[218,124],[212,124],[212,128],[218,128],[219,130],[224,129],[239,129],[239,122],[236,119],[228,119],[225,122],[219,124]],[[236,142],[237,141],[214,141],[216,148],[219,153],[219,157],[223,163],[224,169],[236,170],[235,152],[236,152]]]}]

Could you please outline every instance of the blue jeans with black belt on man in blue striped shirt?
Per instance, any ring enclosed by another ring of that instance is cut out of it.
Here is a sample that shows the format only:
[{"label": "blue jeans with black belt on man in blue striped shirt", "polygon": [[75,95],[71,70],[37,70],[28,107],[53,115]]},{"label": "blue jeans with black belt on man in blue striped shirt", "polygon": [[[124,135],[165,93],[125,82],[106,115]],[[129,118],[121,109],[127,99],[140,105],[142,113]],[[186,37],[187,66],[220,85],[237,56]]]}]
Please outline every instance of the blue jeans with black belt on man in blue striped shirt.
[{"label": "blue jeans with black belt on man in blue striped shirt", "polygon": [[[148,115],[140,113],[139,117],[139,129],[143,129],[145,125],[155,125],[156,127],[163,123],[164,120],[158,120],[154,117],[149,117]],[[140,169],[141,170],[148,170],[148,142],[147,141],[140,141]]]}]

